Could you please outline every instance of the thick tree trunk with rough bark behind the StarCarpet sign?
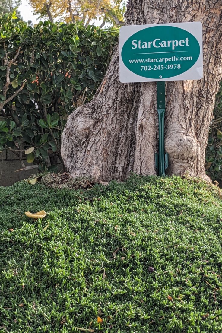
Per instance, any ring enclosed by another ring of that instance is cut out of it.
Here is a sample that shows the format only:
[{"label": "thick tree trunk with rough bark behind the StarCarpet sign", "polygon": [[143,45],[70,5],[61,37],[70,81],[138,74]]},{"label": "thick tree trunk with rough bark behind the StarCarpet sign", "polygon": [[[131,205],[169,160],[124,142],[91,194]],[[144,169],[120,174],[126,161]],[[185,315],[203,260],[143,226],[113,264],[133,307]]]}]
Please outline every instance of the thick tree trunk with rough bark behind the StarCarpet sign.
[{"label": "thick tree trunk with rough bark behind the StarCarpet sign", "polygon": [[[222,79],[222,0],[129,0],[126,25],[200,21],[203,79],[166,83],[168,174],[200,176],[215,94]],[[156,174],[156,83],[120,83],[118,47],[92,102],[68,118],[62,157],[72,176],[122,180],[133,171]]]}]

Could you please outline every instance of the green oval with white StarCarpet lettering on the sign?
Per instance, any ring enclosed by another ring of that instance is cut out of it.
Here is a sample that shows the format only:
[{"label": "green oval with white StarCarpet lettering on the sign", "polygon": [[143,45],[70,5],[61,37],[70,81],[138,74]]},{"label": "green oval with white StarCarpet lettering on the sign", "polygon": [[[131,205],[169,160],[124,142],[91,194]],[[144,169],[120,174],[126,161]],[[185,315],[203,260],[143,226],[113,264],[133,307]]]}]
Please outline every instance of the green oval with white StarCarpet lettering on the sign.
[{"label": "green oval with white StarCarpet lettering on the sign", "polygon": [[153,26],[140,30],[124,43],[121,57],[133,73],[150,79],[177,76],[190,69],[200,55],[197,39],[173,26]]}]

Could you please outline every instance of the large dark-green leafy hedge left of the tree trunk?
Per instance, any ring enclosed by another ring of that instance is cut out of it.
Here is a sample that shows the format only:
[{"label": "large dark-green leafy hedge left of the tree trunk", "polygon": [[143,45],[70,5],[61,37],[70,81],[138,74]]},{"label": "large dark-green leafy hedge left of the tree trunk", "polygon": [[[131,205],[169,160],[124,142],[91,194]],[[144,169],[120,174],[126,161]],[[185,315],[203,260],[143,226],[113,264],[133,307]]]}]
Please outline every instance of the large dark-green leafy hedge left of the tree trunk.
[{"label": "large dark-green leafy hedge left of the tree trunk", "polygon": [[[68,115],[90,101],[106,72],[117,30],[0,18],[0,150],[26,156],[40,170],[61,161]],[[25,154],[26,153],[26,154]]]}]

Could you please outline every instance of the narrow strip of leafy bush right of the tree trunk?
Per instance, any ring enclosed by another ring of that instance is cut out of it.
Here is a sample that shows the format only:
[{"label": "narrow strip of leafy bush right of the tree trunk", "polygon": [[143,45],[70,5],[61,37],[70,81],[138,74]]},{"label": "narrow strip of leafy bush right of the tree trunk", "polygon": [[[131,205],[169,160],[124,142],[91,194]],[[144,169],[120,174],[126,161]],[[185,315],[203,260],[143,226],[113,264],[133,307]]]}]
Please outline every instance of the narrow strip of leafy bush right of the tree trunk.
[{"label": "narrow strip of leafy bush right of the tree trunk", "polygon": [[222,180],[222,82],[216,96],[214,119],[206,149],[206,172],[213,180]]}]

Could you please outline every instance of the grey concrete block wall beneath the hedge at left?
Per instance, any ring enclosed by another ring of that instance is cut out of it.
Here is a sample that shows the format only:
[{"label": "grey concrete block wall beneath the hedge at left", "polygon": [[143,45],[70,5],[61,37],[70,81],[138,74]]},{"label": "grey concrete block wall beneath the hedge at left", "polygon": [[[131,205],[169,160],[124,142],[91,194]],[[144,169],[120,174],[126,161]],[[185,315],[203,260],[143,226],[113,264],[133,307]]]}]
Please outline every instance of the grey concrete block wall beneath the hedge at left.
[{"label": "grey concrete block wall beneath the hedge at left", "polygon": [[[23,161],[25,166],[28,165]],[[12,185],[16,181],[30,177],[32,174],[37,173],[37,169],[27,171],[17,171],[21,169],[19,158],[9,150],[3,150],[0,153],[0,186]]]}]

